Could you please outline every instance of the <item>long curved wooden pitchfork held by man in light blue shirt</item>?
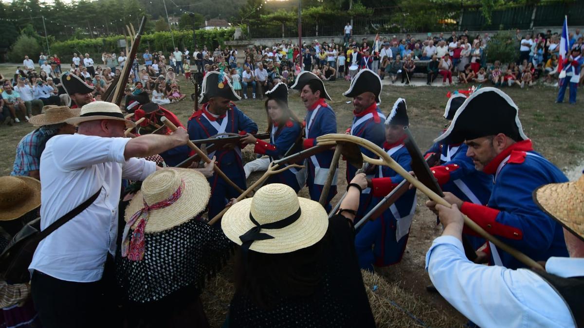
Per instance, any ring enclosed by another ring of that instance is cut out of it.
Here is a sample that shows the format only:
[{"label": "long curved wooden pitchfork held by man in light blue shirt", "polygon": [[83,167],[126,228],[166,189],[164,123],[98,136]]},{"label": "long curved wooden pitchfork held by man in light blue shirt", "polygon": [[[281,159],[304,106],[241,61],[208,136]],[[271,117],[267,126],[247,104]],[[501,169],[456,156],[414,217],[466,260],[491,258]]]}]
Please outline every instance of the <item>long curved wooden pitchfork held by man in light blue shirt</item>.
[{"label": "long curved wooden pitchfork held by man in light blue shirt", "polygon": [[[317,142],[318,142],[317,145],[327,145],[327,146],[328,145],[335,145],[337,141],[353,142],[355,144],[358,144],[360,146],[363,146],[363,147],[369,149],[370,151],[375,153],[377,156],[379,156],[380,159],[373,159],[373,158],[370,158],[369,156],[363,155],[364,161],[371,163],[373,165],[389,166],[396,173],[398,173],[398,175],[401,175],[402,177],[404,177],[405,180],[408,180],[409,183],[413,184],[414,187],[418,188],[420,191],[422,191],[422,193],[426,194],[426,196],[428,196],[431,200],[433,200],[437,204],[444,205],[446,207],[452,206],[446,200],[444,200],[444,198],[438,196],[436,193],[434,193],[434,191],[432,191],[428,187],[426,187],[425,184],[423,184],[418,179],[416,179],[415,177],[410,175],[404,168],[401,167],[401,165],[399,165],[397,162],[395,162],[395,160],[392,159],[391,156],[388,155],[387,152],[384,152],[383,149],[381,149],[379,146],[377,146],[376,144],[374,144],[373,142],[371,142],[369,140],[355,137],[354,135],[335,133],[335,134],[326,134],[326,135],[322,135],[321,137],[318,137],[317,138]],[[479,235],[481,235],[482,238],[489,240],[489,242],[492,242],[493,244],[495,244],[495,246],[499,247],[502,250],[505,250],[505,252],[511,254],[513,257],[515,257],[517,260],[521,261],[526,266],[540,268],[541,270],[544,270],[544,268],[541,266],[541,264],[537,263],[536,261],[534,261],[533,259],[528,257],[526,254],[519,252],[519,250],[514,249],[513,247],[507,245],[506,243],[503,243],[502,241],[500,241],[498,238],[491,235],[490,233],[486,232],[485,229],[481,228],[481,226],[479,226],[477,223],[472,221],[466,215],[463,214],[463,218],[464,218],[464,224],[467,225],[469,228],[471,228],[473,231],[477,232]]]}]

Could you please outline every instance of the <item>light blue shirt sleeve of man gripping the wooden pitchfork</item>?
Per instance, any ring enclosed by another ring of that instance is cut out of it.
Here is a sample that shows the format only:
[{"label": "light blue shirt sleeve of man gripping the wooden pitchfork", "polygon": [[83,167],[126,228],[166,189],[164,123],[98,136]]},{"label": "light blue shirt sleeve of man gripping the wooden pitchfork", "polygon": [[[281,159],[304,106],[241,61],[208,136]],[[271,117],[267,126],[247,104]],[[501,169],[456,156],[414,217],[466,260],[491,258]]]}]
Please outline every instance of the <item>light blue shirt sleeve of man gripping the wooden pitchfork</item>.
[{"label": "light blue shirt sleeve of man gripping the wooden pitchfork", "polygon": [[440,295],[478,326],[574,327],[561,296],[539,275],[472,263],[453,236],[434,239],[426,270]]}]

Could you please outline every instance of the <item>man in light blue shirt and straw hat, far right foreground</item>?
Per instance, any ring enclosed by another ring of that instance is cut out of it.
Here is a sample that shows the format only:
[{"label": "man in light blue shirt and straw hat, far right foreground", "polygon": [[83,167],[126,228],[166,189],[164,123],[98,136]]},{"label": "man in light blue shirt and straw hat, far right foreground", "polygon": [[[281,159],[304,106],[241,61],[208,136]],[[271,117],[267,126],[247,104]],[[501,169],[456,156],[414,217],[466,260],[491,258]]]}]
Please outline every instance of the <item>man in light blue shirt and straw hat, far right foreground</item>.
[{"label": "man in light blue shirt and straw hat, far right foreground", "polygon": [[546,184],[535,203],[564,226],[570,257],[550,257],[545,271],[474,264],[464,255],[464,220],[457,205],[436,205],[444,225],[426,254],[434,287],[480,327],[582,326],[584,277],[584,176],[578,182]]}]

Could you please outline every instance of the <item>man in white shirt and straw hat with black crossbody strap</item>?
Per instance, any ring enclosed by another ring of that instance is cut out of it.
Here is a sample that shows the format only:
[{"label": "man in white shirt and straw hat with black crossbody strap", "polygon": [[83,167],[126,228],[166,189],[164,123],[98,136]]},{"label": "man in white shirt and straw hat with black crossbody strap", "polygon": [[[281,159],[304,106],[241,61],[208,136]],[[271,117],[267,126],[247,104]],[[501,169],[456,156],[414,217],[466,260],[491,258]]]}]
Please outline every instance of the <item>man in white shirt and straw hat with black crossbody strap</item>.
[{"label": "man in white shirt and straw hat with black crossbody strap", "polygon": [[106,259],[116,253],[121,179],[144,180],[157,166],[143,157],[185,145],[189,136],[179,128],[123,138],[135,124],[107,102],[87,104],[67,123],[78,133],[49,139],[41,155],[41,229],[99,196],[39,243],[29,267],[33,301],[43,327],[109,327],[117,303]]}]

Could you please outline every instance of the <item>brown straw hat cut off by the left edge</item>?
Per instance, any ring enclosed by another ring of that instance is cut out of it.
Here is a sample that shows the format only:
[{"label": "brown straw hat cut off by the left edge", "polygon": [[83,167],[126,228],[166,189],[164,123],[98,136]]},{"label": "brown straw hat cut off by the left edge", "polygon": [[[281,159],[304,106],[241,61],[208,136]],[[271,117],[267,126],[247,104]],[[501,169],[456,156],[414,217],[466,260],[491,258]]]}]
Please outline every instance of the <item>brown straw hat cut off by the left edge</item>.
[{"label": "brown straw hat cut off by the left edge", "polygon": [[18,219],[39,205],[39,180],[28,176],[0,177],[0,221]]}]

